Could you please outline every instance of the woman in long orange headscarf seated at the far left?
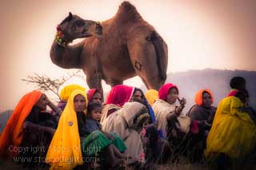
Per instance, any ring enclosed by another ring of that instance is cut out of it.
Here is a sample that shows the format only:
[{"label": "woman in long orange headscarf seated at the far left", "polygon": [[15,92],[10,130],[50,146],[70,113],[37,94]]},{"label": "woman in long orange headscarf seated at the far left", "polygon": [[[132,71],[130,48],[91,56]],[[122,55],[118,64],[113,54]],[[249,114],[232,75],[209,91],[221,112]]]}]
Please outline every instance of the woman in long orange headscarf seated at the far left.
[{"label": "woman in long orange headscarf seated at the far left", "polygon": [[[47,105],[54,111],[58,109],[45,94],[39,91],[34,90],[22,97],[0,136],[1,158],[13,159],[14,156],[32,152],[31,147],[33,145],[30,144],[31,142],[35,143],[31,138],[32,131],[37,132],[37,135],[53,135],[54,128],[50,128],[50,125],[41,124],[43,122],[52,125],[53,122],[49,121],[50,113],[42,113],[46,110]],[[44,120],[40,119],[42,117],[44,117]],[[30,146],[30,150],[25,150],[26,146]],[[39,152],[39,149],[37,152]]]}]

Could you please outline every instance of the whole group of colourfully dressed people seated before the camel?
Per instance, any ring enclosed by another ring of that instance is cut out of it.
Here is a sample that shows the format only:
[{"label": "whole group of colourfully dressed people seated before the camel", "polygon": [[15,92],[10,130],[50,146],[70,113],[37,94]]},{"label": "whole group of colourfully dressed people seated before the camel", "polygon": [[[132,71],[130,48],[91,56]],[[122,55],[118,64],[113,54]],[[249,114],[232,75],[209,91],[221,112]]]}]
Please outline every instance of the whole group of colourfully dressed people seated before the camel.
[{"label": "whole group of colourfully dressed people seated before the camel", "polygon": [[[199,90],[188,113],[182,113],[186,99],[178,97],[172,83],[145,95],[141,89],[116,85],[105,104],[101,89],[86,92],[80,85],[67,85],[57,106],[34,90],[22,97],[7,122],[0,136],[0,156],[39,156],[51,168],[66,169],[98,156],[109,168],[118,168],[164,163],[186,146],[198,149],[199,159],[205,154],[218,165],[224,158],[237,160],[254,150],[256,119],[247,102],[246,81],[234,77],[230,86],[218,109],[212,106],[210,89]],[[47,105],[51,113],[46,113]],[[43,149],[26,152],[36,146]]]}]

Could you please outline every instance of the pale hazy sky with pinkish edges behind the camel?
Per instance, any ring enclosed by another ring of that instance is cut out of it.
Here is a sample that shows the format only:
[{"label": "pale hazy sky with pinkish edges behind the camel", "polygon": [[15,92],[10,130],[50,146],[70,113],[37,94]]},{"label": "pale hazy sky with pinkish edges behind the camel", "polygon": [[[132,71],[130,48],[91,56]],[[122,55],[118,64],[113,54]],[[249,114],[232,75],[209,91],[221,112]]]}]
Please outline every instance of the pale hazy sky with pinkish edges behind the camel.
[{"label": "pale hazy sky with pinkish edges behind the camel", "polygon": [[[0,111],[14,109],[34,88],[21,81],[33,73],[62,77],[70,72],[50,61],[55,28],[69,11],[104,21],[120,0],[2,0],[0,2]],[[132,0],[169,48],[168,72],[187,69],[256,70],[256,1]],[[142,83],[138,78],[126,81]],[[84,82],[78,82],[83,84]],[[109,87],[107,88],[109,89]]]}]

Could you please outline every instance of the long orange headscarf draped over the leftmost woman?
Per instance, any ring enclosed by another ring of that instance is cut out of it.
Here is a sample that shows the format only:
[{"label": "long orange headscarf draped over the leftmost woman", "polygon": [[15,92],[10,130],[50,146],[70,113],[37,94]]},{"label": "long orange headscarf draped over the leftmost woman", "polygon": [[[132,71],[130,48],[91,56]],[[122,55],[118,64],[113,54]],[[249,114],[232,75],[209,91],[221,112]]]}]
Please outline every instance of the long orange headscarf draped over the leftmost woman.
[{"label": "long orange headscarf draped over the leftmost woman", "polygon": [[12,158],[18,155],[18,152],[10,152],[8,147],[18,147],[22,143],[23,123],[41,96],[41,92],[34,90],[26,93],[18,102],[0,136],[0,157]]}]

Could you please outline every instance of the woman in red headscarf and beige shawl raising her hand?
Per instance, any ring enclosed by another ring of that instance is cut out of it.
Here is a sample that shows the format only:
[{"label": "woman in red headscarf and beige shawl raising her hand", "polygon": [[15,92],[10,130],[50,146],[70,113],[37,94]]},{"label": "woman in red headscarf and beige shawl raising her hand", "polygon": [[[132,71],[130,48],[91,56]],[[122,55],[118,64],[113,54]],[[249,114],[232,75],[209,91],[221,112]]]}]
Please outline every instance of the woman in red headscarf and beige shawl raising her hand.
[{"label": "woman in red headscarf and beige shawl raising her hand", "polygon": [[[152,108],[157,121],[157,128],[162,131],[162,135],[170,142],[175,154],[190,153],[190,137],[198,130],[198,126],[191,121],[190,117],[182,114],[182,109],[186,105],[186,99],[178,97],[178,87],[172,83],[162,85],[159,89],[158,97]],[[176,101],[179,105],[176,105]],[[190,156],[190,155],[186,155]]]}]

